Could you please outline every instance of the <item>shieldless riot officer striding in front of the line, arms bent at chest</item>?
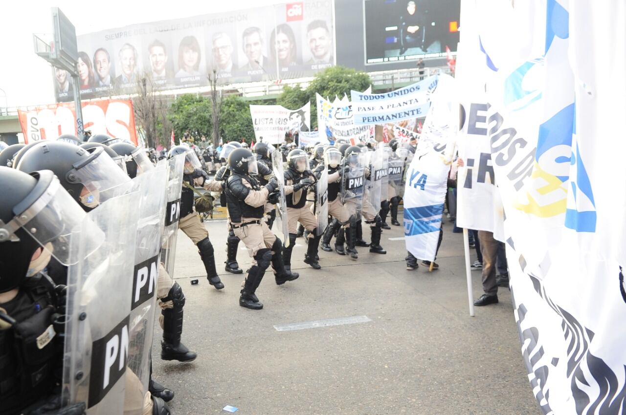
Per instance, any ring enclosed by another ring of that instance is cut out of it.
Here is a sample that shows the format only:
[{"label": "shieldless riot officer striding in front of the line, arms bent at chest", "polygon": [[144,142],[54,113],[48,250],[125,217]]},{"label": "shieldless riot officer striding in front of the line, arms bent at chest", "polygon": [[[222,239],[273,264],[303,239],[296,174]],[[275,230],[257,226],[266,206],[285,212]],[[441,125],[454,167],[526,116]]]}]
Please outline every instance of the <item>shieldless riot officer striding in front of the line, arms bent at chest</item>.
[{"label": "shieldless riot officer striding in front of the line, arms bent at chest", "polygon": [[233,232],[244,242],[252,256],[252,266],[241,290],[239,305],[260,310],[263,304],[255,295],[265,270],[272,265],[277,285],[295,280],[298,274],[285,269],[282,241],[262,220],[268,196],[278,188],[275,180],[261,187],[255,176],[259,173],[256,157],[247,148],[237,148],[228,156],[230,177],[226,182],[228,215]]}]

